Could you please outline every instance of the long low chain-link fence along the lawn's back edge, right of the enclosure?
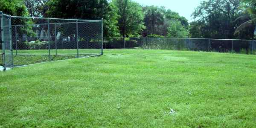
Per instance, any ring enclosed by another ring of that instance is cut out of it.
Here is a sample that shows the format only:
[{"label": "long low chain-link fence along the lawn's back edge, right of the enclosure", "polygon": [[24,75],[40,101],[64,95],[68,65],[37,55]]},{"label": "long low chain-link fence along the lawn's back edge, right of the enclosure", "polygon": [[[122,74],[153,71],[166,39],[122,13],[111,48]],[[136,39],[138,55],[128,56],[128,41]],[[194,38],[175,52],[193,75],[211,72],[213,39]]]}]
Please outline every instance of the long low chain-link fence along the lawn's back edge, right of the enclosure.
[{"label": "long low chain-link fence along the lawn's back edge, right of the enclosure", "polygon": [[256,41],[196,38],[111,38],[104,41],[105,49],[170,49],[207,52],[255,54]]}]

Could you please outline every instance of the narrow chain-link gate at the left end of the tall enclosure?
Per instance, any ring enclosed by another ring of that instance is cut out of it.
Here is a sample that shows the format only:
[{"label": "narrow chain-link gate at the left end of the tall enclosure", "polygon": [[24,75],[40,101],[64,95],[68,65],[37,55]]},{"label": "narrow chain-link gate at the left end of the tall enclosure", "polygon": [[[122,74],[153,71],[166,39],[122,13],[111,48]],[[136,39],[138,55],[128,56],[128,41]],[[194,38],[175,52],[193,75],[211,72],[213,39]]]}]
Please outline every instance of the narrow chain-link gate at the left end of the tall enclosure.
[{"label": "narrow chain-link gate at the left end of the tall enclosure", "polygon": [[0,12],[3,70],[13,67],[11,16]]}]

